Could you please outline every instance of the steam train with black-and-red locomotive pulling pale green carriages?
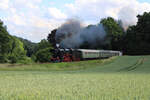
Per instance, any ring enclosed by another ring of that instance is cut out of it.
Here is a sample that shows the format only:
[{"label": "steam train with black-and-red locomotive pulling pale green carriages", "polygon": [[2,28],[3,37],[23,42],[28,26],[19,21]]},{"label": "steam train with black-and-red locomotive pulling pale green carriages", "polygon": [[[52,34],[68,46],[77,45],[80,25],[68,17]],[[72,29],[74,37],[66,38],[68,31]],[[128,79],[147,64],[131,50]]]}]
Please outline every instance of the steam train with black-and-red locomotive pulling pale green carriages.
[{"label": "steam train with black-and-red locomotive pulling pale green carriages", "polygon": [[72,62],[122,56],[121,51],[111,50],[54,49],[51,52],[53,53],[52,62]]}]

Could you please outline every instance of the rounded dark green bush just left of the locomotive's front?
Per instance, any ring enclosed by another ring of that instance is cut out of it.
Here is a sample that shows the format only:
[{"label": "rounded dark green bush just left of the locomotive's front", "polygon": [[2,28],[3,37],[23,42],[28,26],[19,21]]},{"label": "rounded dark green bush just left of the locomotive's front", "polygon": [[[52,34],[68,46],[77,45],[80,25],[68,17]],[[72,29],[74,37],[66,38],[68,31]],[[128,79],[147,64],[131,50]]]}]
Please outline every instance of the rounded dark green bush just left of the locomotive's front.
[{"label": "rounded dark green bush just left of the locomotive's front", "polygon": [[36,53],[36,61],[37,62],[50,62],[51,59],[51,48],[41,49]]}]

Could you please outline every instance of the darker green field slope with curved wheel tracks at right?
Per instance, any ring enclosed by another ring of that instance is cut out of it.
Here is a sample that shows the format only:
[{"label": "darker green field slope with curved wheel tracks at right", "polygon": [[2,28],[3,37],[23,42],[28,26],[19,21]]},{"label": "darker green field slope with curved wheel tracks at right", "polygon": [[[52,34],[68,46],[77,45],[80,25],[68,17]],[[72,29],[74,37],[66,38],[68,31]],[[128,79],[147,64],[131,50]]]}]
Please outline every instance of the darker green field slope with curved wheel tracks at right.
[{"label": "darker green field slope with curved wheel tracks at right", "polygon": [[150,73],[150,56],[118,57],[112,63],[89,69],[89,72],[100,73]]}]

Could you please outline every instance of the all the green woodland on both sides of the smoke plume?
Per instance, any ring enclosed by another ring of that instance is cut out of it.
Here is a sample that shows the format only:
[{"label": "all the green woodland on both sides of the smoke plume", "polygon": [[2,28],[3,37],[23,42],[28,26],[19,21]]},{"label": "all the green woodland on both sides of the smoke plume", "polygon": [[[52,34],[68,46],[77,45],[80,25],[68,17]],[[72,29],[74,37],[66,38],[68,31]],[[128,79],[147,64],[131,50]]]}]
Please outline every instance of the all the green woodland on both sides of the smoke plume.
[{"label": "all the green woodland on both sides of the smoke plume", "polygon": [[[137,24],[124,29],[121,20],[112,17],[103,18],[98,22],[104,26],[106,36],[102,40],[96,40],[91,44],[89,40],[83,41],[77,48],[80,49],[104,49],[122,51],[124,55],[149,55],[150,54],[150,12],[137,15]],[[93,27],[89,25],[86,28]],[[0,63],[33,63],[50,62],[53,48],[51,35],[57,29],[52,30],[47,39],[39,43],[12,36],[7,27],[0,20]]]}]

